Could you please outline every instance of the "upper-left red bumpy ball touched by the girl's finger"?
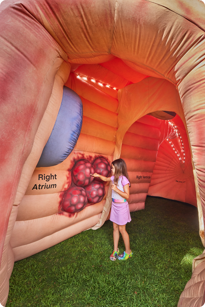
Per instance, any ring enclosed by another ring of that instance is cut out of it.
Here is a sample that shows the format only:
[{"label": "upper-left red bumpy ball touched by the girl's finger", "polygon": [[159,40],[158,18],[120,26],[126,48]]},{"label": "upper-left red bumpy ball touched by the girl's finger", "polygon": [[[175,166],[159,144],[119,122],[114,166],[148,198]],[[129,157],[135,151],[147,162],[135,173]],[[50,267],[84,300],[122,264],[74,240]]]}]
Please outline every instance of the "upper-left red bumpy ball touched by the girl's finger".
[{"label": "upper-left red bumpy ball touched by the girl's finger", "polygon": [[93,165],[86,161],[81,160],[76,163],[72,171],[73,182],[79,187],[85,187],[93,181],[90,174],[94,173]]}]

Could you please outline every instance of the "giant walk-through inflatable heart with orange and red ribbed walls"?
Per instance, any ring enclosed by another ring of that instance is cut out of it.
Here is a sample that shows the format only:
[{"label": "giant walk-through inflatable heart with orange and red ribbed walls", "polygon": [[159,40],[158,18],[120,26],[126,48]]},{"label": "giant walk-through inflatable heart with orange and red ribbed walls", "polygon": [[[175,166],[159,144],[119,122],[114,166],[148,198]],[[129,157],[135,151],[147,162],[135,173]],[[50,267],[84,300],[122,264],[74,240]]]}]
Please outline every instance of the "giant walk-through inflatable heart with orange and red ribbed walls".
[{"label": "giant walk-through inflatable heart with orange and red ribbed walls", "polygon": [[[109,218],[86,169],[127,163],[148,195],[199,209],[204,243],[205,6],[198,0],[4,0],[0,5],[0,302],[15,260]],[[178,306],[202,306],[204,254]]]}]

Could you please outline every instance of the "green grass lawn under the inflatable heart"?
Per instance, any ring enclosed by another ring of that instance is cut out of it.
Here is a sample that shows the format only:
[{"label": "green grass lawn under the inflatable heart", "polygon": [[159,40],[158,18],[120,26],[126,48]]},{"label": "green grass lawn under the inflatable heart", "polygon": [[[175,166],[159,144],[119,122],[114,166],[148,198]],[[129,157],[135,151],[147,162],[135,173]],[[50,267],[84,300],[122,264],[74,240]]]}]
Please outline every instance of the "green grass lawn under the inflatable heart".
[{"label": "green grass lawn under the inflatable heart", "polygon": [[[112,262],[112,222],[15,262],[6,306],[177,306],[203,252],[194,206],[147,197],[127,224],[134,257]],[[124,243],[120,236],[120,251]]]}]

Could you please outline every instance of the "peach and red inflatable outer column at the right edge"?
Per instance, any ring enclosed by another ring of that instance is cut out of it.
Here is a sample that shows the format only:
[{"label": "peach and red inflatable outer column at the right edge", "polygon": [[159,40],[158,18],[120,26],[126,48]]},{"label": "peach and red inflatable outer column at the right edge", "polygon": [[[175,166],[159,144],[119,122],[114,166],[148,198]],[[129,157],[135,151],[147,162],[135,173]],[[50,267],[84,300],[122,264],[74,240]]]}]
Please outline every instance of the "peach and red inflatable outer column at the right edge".
[{"label": "peach and red inflatable outer column at the right edge", "polygon": [[[205,40],[201,48],[205,49]],[[205,57],[205,52],[204,52]],[[179,84],[184,115],[198,179],[203,217],[205,219],[205,61],[194,68]],[[195,80],[198,80],[195,83]]]}]

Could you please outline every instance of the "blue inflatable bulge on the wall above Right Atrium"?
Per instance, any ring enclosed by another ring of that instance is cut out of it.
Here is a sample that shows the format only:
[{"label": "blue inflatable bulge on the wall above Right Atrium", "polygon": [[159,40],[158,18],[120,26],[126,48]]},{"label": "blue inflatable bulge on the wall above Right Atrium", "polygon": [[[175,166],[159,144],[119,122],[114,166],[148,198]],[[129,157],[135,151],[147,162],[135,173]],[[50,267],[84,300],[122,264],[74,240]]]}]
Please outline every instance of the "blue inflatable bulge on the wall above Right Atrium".
[{"label": "blue inflatable bulge on the wall above Right Atrium", "polygon": [[57,165],[69,156],[79,138],[82,120],[83,105],[80,97],[64,86],[55,125],[36,167]]}]

